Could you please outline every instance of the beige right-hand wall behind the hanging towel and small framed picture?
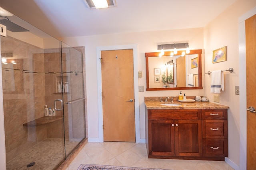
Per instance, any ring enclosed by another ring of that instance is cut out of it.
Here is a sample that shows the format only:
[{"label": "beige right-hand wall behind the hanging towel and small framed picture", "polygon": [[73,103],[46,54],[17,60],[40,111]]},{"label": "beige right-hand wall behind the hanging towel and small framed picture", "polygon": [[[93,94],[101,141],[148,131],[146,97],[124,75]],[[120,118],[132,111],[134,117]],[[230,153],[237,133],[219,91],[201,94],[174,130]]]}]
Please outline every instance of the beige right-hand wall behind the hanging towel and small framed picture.
[{"label": "beige right-hand wall behind the hanging towel and small framed picture", "polygon": [[[204,28],[205,71],[228,69],[225,72],[225,90],[220,94],[220,103],[228,109],[228,158],[239,166],[240,147],[240,113],[239,95],[235,95],[235,86],[239,85],[239,53],[238,53],[238,18],[256,6],[255,0],[237,0],[216,19]],[[227,46],[227,61],[212,63],[212,50]],[[213,101],[214,94],[210,93],[211,76],[206,75],[206,95]],[[246,100],[246,99],[244,99]],[[234,149],[236,148],[236,149]]]}]

